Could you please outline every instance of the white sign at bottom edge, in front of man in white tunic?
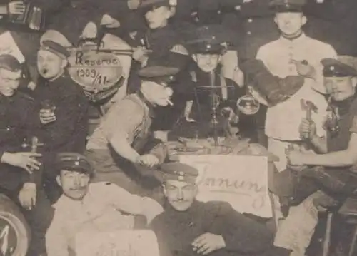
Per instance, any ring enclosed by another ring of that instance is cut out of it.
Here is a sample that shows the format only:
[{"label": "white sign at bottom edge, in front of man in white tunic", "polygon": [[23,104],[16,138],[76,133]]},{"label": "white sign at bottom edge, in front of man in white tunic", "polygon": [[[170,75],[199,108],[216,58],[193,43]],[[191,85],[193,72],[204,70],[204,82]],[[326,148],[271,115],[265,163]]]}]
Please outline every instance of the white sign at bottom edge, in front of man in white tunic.
[{"label": "white sign at bottom edge, in front of man in white tunic", "polygon": [[159,256],[151,230],[81,232],[76,235],[76,256]]}]

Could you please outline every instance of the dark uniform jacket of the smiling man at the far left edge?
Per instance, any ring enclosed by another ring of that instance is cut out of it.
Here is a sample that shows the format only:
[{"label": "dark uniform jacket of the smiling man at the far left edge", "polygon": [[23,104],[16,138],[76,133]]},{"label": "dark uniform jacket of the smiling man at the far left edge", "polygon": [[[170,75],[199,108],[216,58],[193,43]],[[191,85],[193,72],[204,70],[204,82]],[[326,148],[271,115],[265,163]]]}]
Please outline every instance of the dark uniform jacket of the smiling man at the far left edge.
[{"label": "dark uniform jacket of the smiling man at the far left edge", "polygon": [[[24,140],[28,143],[28,139],[36,135],[38,127],[39,116],[33,98],[19,92],[12,97],[0,96],[0,157],[5,152],[29,151],[22,145]],[[26,170],[0,163],[0,189],[14,192],[29,181]]]}]

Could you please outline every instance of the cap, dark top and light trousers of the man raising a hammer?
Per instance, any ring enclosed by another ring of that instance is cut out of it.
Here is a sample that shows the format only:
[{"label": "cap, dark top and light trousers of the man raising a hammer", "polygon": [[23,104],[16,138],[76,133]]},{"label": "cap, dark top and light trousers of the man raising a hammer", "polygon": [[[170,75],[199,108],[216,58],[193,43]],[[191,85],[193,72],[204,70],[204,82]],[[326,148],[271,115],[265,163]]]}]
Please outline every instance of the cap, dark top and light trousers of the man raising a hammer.
[{"label": "cap, dark top and light trousers of the man raising a hammer", "polygon": [[[323,63],[323,76],[357,76],[356,69],[351,66],[336,61],[331,58],[326,58],[321,61]],[[343,101],[332,102],[331,113],[326,118],[326,135],[328,153],[346,150],[352,133],[357,133],[357,100],[355,95],[346,98]],[[338,116],[336,116],[336,114]],[[334,167],[333,169],[343,173],[351,170],[351,167]],[[352,167],[353,170],[353,167]],[[318,176],[318,173],[316,173]],[[289,210],[286,220],[281,222],[276,233],[275,245],[290,248],[293,250],[293,255],[305,255],[305,250],[311,242],[311,236],[318,223],[318,206],[329,208],[338,205],[338,201],[348,195],[338,195],[329,191],[328,186],[323,188],[323,178],[316,177],[318,183],[315,184],[316,193],[313,193],[303,202]],[[321,179],[321,180],[319,180]],[[327,191],[327,193],[325,193]],[[344,193],[343,193],[344,194]],[[298,241],[298,242],[296,242]]]}]

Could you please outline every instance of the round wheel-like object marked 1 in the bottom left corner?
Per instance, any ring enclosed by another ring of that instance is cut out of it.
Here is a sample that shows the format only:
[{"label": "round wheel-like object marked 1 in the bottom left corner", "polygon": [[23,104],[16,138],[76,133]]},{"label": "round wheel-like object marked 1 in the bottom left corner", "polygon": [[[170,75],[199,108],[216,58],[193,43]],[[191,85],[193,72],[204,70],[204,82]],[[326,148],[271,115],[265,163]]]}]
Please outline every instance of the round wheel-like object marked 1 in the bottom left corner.
[{"label": "round wheel-like object marked 1 in the bottom left corner", "polygon": [[18,206],[0,194],[0,255],[25,256],[30,229]]}]

